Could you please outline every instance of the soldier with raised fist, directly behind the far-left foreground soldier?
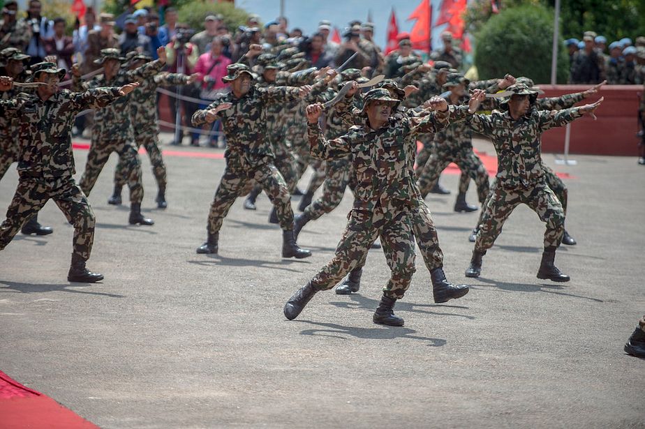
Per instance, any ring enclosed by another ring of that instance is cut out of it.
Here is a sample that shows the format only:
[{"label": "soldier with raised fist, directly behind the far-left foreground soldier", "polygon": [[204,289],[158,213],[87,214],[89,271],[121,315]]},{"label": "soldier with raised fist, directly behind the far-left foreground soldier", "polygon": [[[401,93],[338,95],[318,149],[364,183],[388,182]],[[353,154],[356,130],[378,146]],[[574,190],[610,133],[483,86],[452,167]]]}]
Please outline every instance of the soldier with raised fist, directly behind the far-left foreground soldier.
[{"label": "soldier with raised fist, directly behind the far-left foreground soldier", "polygon": [[[88,82],[80,81],[80,71],[77,65],[73,67],[73,89],[89,89],[108,85],[120,85],[133,80],[153,80],[165,65],[165,47],[157,50],[159,59],[146,63],[135,70],[121,68],[121,53],[114,48],[101,51],[101,59],[97,63],[103,65],[103,74],[96,75]],[[101,174],[103,166],[107,163],[112,152],[117,152],[126,169],[128,187],[130,188],[130,216],[128,223],[131,225],[153,225],[151,219],[144,218],[141,214],[143,200],[143,186],[141,179],[141,160],[137,144],[134,142],[134,127],[129,97],[122,98],[113,105],[97,110],[92,128],[92,140],[87,154],[85,171],[80,179],[80,187],[89,195],[94,183]]]}]

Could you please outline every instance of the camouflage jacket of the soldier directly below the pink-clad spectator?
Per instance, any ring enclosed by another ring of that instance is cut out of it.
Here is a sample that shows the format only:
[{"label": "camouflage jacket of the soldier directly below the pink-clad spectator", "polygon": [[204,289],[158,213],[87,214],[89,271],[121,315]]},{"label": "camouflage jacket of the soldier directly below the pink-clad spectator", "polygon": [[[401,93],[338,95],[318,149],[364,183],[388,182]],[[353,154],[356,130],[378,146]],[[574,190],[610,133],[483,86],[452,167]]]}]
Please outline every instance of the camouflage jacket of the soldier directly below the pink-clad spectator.
[{"label": "camouflage jacket of the soldier directly below the pink-clad spectator", "polygon": [[232,172],[246,172],[271,162],[274,157],[267,139],[267,105],[296,100],[298,93],[298,88],[290,86],[261,88],[257,85],[241,98],[236,98],[232,91],[221,93],[205,110],[193,114],[193,125],[205,123],[208,110],[222,103],[231,103],[229,109],[217,114],[226,135],[227,166]]}]

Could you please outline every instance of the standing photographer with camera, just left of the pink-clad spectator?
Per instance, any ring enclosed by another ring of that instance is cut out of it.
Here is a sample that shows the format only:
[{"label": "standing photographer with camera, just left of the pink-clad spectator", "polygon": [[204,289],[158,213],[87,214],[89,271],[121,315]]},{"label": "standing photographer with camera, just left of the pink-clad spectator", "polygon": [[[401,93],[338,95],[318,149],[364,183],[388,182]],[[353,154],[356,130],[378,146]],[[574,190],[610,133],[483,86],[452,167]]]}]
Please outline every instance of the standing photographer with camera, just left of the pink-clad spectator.
[{"label": "standing photographer with camera, just left of the pink-clad spectator", "polygon": [[[183,73],[184,75],[193,74],[193,69],[199,59],[199,51],[198,47],[188,41],[191,40],[192,36],[193,30],[189,29],[186,24],[177,24],[177,33],[175,33],[175,38],[165,47],[165,52],[168,54],[167,70],[170,73]],[[168,87],[168,90],[175,92],[178,96],[183,95],[186,97],[199,98],[200,95],[200,89],[194,85],[179,87],[170,86]],[[177,111],[183,107],[184,123],[186,126],[190,126],[191,116],[193,116],[193,113],[198,110],[198,104],[188,100],[181,100],[181,103],[177,103],[177,98],[173,96],[168,96],[168,104],[170,105],[170,112],[172,112],[173,118],[177,118]],[[181,114],[179,114],[179,117],[182,117]],[[181,126],[181,121],[179,121],[179,125]],[[175,140],[171,144],[181,145],[181,140],[184,140],[183,130],[179,130],[178,133],[175,133]],[[191,144],[193,146],[199,146],[199,140],[193,137],[191,139]]]}]

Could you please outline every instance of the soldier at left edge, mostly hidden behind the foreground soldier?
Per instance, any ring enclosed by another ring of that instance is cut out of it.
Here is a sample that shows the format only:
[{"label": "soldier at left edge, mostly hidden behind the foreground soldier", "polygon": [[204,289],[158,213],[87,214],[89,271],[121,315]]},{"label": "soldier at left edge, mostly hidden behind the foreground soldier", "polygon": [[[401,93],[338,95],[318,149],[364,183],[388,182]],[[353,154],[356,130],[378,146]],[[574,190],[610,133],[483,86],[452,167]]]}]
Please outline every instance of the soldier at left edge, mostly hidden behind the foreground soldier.
[{"label": "soldier at left edge, mostly hidden behind the foreground soldier", "polygon": [[[25,66],[29,64],[29,55],[25,55],[15,47],[7,47],[0,51],[0,76],[7,76],[13,82],[25,82],[29,73]],[[14,98],[20,91],[10,89],[0,93],[0,98],[8,100]],[[0,117],[0,180],[9,169],[9,166],[20,157],[20,144],[15,136],[17,135],[18,119],[15,117]],[[43,227],[38,223],[38,213],[22,225],[20,232],[25,235],[47,235],[54,230],[51,227]]]}]

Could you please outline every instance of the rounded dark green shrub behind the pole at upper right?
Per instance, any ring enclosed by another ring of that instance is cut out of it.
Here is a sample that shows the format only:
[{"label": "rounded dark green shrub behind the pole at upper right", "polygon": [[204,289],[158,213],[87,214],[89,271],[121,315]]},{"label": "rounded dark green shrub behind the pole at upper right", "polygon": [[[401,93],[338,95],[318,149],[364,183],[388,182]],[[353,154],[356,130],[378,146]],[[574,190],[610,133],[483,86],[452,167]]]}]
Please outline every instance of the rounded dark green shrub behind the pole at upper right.
[{"label": "rounded dark green shrub behind the pole at upper right", "polygon": [[[480,79],[506,73],[531,77],[535,83],[551,82],[552,10],[521,6],[503,10],[475,35],[475,66]],[[563,39],[558,49],[558,83],[566,83],[569,58]]]}]

